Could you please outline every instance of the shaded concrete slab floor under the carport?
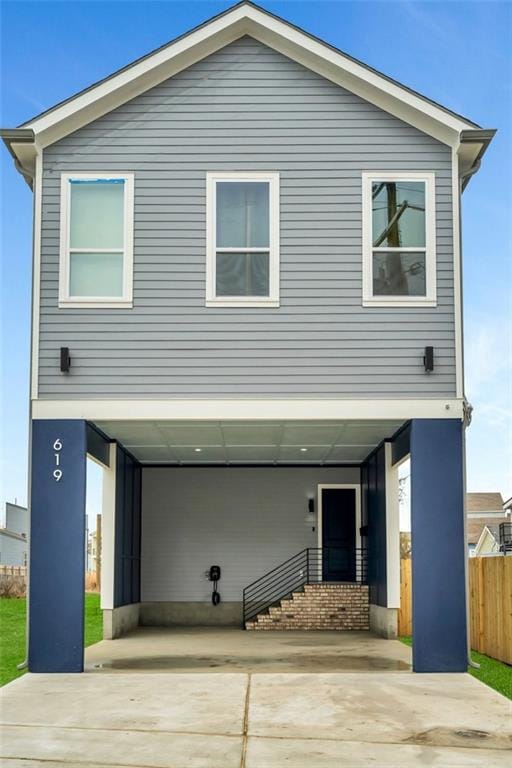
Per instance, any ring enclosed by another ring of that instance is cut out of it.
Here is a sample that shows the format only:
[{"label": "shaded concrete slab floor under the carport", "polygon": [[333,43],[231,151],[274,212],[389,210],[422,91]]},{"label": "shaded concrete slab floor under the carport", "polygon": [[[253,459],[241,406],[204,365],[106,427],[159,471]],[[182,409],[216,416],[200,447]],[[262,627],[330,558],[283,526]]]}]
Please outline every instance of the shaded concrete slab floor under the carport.
[{"label": "shaded concrete slab floor under the carport", "polygon": [[410,648],[370,632],[245,632],[241,629],[134,630],[85,654],[88,671],[408,671]]}]

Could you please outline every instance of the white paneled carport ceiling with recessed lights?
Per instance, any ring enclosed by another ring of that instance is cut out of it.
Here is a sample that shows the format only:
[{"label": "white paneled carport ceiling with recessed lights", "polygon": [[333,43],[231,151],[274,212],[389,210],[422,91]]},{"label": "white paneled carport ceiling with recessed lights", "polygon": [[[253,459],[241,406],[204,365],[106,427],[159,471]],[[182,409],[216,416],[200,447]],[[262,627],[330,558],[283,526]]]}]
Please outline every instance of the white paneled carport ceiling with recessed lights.
[{"label": "white paneled carport ceiling with recessed lights", "polygon": [[146,464],[358,464],[396,421],[99,421]]}]

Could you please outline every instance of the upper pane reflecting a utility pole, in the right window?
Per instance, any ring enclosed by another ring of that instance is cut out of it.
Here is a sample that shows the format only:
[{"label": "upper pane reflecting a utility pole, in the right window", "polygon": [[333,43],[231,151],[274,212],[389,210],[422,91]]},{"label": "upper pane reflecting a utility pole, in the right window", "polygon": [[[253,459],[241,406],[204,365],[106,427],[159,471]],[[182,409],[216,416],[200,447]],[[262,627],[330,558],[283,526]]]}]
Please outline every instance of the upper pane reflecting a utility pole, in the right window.
[{"label": "upper pane reflecting a utility pole, in the right window", "polygon": [[425,245],[425,182],[374,181],[373,245],[410,248]]}]

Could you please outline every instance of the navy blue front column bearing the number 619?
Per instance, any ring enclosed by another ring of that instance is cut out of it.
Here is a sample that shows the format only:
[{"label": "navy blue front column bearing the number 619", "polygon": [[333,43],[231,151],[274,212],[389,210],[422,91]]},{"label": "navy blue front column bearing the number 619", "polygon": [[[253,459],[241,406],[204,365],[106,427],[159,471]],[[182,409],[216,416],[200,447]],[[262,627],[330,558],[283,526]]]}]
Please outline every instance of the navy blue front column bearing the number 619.
[{"label": "navy blue front column bearing the number 619", "polygon": [[32,422],[31,672],[81,672],[84,655],[86,422]]}]

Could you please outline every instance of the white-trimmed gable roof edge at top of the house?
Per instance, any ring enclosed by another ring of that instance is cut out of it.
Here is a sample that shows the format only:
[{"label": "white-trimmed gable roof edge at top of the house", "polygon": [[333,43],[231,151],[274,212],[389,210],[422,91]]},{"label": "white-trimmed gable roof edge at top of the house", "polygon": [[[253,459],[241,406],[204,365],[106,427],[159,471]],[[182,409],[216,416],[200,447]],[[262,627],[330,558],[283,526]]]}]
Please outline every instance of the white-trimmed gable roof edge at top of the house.
[{"label": "white-trimmed gable roof edge at top of the house", "polygon": [[113,75],[42,112],[18,128],[0,131],[20,166],[32,171],[43,149],[144,93],[229,43],[249,35],[328,80],[459,151],[464,167],[479,161],[494,135],[396,80],[248,0],[228,8]]}]

